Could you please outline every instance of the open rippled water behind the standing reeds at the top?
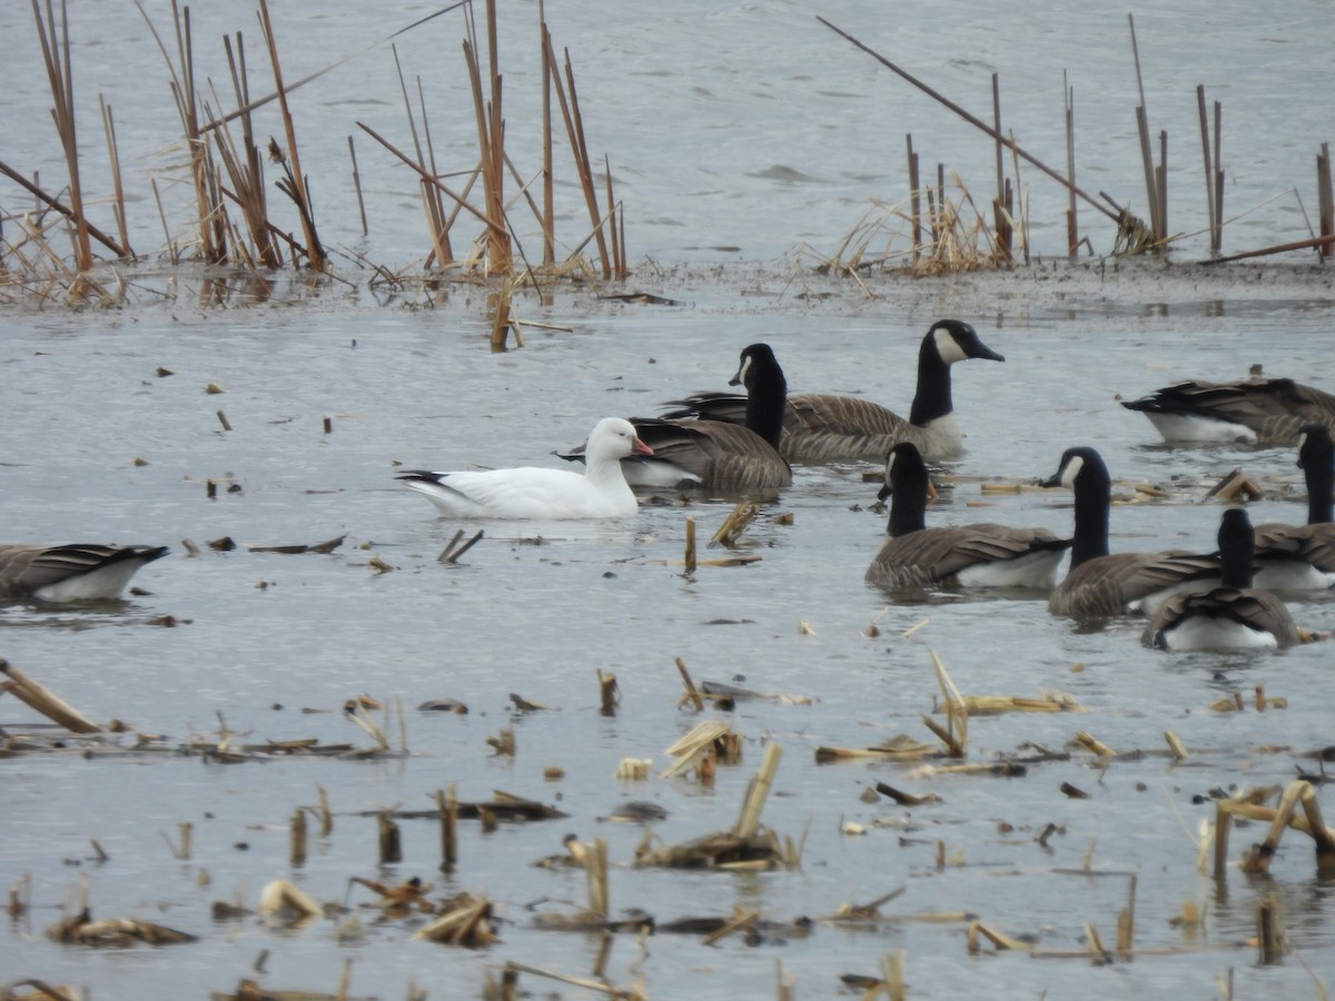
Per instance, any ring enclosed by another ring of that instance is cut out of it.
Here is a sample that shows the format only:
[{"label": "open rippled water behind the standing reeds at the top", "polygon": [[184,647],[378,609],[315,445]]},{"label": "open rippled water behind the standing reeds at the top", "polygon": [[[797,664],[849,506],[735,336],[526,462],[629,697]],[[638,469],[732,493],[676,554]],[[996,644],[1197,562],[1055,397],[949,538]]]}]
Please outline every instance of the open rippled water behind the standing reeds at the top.
[{"label": "open rippled water behind the standing reeds at the top", "polygon": [[[144,7],[175,52],[167,5]],[[392,0],[372,12],[334,0],[314,13],[302,4],[271,7],[286,80],[360,52],[291,97],[302,167],[324,242],[395,270],[421,262],[430,242],[417,178],[356,123],[400,148],[413,147],[390,47],[363,49],[443,4]],[[527,0],[502,7],[506,149],[518,175],[529,180],[541,167],[538,5]],[[590,156],[599,171],[607,157],[617,198],[625,202],[633,263],[682,255],[772,260],[808,247],[810,256],[830,256],[873,199],[890,206],[906,199],[908,133],[925,174],[934,178],[941,163],[980,206],[991,202],[996,187],[991,139],[853,48],[816,13],[988,121],[997,73],[1004,128],[1060,172],[1067,163],[1065,80],[1073,91],[1076,180],[1096,199],[1107,192],[1147,215],[1135,124],[1139,95],[1123,8],[969,0],[949,12],[921,5],[886,16],[849,0],[818,11],[789,0],[621,5],[613,12],[602,4],[562,3],[545,9],[557,51],[569,51],[574,67]],[[156,252],[163,224],[150,178],[159,179],[178,242],[194,215],[192,190],[179,167],[172,168],[182,161],[180,129],[162,56],[132,5],[103,0],[71,11],[85,184],[95,194],[111,191],[100,93],[117,123],[132,243],[142,254]],[[1204,85],[1207,101],[1223,105],[1226,218],[1240,216],[1226,230],[1224,250],[1311,235],[1318,211],[1315,157],[1320,143],[1330,141],[1332,125],[1328,15],[1322,0],[1299,0],[1282,12],[1238,0],[1191,0],[1137,12],[1149,123],[1156,148],[1160,131],[1169,141],[1171,231],[1192,235],[1207,226],[1196,100],[1196,87]],[[461,16],[437,17],[394,40],[419,136],[421,88],[437,161],[458,187],[465,180],[461,172],[477,159]],[[244,36],[252,95],[268,91],[271,75],[250,3],[195,4],[191,23],[196,76],[206,96],[207,80],[231,100],[222,37],[236,32]],[[60,145],[49,128],[47,76],[25,4],[0,11],[0,35],[9,68],[0,121],[4,160],[60,187]],[[559,117],[554,127],[557,230],[569,252],[583,240],[589,214],[567,167]],[[262,143],[268,135],[283,136],[272,105],[258,112],[256,135]],[[367,199],[366,240],[348,136],[356,143]],[[1013,178],[1009,161],[1005,168]],[[1016,187],[1029,203],[1035,250],[1064,255],[1065,190],[1028,164],[1021,165]],[[7,208],[28,198],[12,187],[0,192]],[[95,218],[111,231],[111,212],[103,212]],[[274,212],[282,219],[282,208]],[[1108,252],[1112,223],[1085,203],[1079,212],[1093,250]],[[538,244],[527,214],[511,216],[533,256]],[[280,224],[298,228],[295,216]],[[897,246],[902,248],[902,240]],[[1208,242],[1192,235],[1181,247],[1187,256],[1204,256]]]}]

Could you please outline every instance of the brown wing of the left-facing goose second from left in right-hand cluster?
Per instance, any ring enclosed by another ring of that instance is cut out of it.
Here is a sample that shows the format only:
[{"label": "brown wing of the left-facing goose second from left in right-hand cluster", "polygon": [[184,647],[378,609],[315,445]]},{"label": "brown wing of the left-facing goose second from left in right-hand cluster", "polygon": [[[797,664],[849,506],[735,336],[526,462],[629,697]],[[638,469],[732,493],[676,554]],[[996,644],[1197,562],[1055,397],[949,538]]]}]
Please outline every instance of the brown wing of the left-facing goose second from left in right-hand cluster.
[{"label": "brown wing of the left-facing goose second from left in right-hand cluster", "polygon": [[1125,615],[1144,598],[1193,581],[1218,581],[1219,573],[1218,557],[1185,550],[1095,557],[1067,574],[1048,599],[1048,610],[1073,618]]}]

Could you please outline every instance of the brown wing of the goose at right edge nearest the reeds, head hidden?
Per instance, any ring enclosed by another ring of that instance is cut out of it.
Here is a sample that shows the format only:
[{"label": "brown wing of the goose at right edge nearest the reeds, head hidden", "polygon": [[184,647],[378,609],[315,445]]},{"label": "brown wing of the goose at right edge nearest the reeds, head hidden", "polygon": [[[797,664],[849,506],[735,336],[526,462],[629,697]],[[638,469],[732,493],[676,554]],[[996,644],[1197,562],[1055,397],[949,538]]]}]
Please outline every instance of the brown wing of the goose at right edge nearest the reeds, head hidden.
[{"label": "brown wing of the goose at right edge nearest the reeds, head hidden", "polygon": [[1147,414],[1181,414],[1242,424],[1260,444],[1296,444],[1303,424],[1335,427],[1335,396],[1292,379],[1188,382],[1165,386],[1123,406]]}]

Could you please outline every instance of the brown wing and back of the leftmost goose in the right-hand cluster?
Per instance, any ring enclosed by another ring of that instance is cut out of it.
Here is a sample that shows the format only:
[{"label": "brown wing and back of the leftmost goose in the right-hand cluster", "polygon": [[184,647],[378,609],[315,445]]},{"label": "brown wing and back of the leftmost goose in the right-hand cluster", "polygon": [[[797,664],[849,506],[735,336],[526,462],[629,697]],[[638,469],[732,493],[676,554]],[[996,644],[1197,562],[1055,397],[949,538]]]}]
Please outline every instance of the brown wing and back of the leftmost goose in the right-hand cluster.
[{"label": "brown wing and back of the leftmost goose in the right-hand cluster", "polygon": [[1055,562],[1068,545],[1047,529],[987,523],[922,529],[886,539],[866,569],[865,579],[889,587],[953,585],[971,567],[1004,563],[1033,553],[1055,551]]}]

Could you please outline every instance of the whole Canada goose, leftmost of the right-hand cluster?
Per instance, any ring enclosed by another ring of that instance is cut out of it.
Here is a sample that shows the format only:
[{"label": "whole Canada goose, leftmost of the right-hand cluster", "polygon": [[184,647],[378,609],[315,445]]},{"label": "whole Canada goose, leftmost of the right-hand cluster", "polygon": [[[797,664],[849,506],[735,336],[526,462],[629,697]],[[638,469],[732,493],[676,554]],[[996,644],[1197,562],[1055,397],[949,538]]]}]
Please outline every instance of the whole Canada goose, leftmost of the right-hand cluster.
[{"label": "whole Canada goose, leftmost of the right-hand cluster", "polygon": [[925,527],[926,463],[917,446],[900,442],[885,463],[881,499],[890,496],[889,537],[866,569],[868,583],[882,587],[961,585],[1044,587],[1071,545],[1047,529],[1005,525]]}]

